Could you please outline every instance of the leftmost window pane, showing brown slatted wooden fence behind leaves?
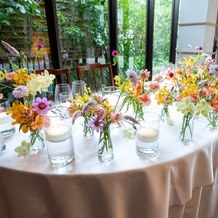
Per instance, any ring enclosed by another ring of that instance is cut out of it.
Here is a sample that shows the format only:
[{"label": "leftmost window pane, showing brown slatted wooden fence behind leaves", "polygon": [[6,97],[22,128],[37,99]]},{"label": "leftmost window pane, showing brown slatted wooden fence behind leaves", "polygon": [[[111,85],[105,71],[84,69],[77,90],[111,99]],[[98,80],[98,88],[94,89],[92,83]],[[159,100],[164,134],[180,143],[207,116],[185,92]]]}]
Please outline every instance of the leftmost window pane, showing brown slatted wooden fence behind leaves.
[{"label": "leftmost window pane, showing brown slatted wooden fence behind leaves", "polygon": [[[37,3],[41,2],[41,3]],[[1,40],[9,43],[26,58],[21,64],[19,57],[13,56],[3,45],[0,46],[0,69],[14,71],[9,60],[19,67],[29,70],[51,67],[50,47],[43,1],[0,1],[0,35]],[[43,48],[37,51],[37,45]],[[1,81],[1,82],[6,82]],[[7,92],[4,96],[7,96]]]}]

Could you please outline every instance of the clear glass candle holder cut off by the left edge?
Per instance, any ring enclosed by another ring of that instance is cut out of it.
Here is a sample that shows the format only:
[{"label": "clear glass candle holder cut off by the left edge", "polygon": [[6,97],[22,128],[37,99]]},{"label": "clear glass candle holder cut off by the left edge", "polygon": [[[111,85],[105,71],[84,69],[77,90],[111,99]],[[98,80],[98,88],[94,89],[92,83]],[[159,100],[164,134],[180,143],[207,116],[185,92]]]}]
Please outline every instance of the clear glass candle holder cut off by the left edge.
[{"label": "clear glass candle holder cut off by the left edge", "polygon": [[15,126],[11,124],[13,122],[13,119],[11,118],[10,114],[6,114],[6,112],[10,108],[10,103],[8,99],[0,99],[0,108],[0,131],[3,138],[5,138],[15,133]]}]

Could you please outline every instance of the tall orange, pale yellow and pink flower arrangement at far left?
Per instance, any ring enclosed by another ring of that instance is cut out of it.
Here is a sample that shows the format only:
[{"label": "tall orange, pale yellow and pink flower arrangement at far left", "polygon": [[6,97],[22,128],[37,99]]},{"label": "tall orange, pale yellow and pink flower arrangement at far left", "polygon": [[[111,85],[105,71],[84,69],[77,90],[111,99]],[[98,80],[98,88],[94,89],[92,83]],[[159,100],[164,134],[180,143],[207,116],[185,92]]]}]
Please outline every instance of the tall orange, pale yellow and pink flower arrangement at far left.
[{"label": "tall orange, pale yellow and pink flower arrangement at far left", "polygon": [[[41,135],[40,130],[42,130],[42,117],[41,112],[47,112],[50,110],[51,102],[47,101],[46,98],[36,97],[37,94],[48,91],[48,87],[53,83],[55,78],[54,75],[50,75],[47,70],[43,74],[37,75],[34,72],[29,73],[28,69],[25,68],[25,58],[21,55],[14,47],[6,42],[3,45],[10,51],[13,55],[20,58],[21,68],[16,64],[12,63],[13,72],[7,72],[2,70],[0,72],[1,79],[6,78],[10,81],[10,85],[0,84],[1,89],[11,88],[12,95],[15,101],[12,103],[12,107],[9,108],[7,114],[11,115],[14,119],[13,125],[19,124],[19,131],[24,133],[31,132],[30,134],[30,145],[32,146],[36,140],[44,141],[44,137]],[[42,46],[40,45],[40,48]],[[37,52],[39,52],[39,49]],[[23,61],[24,60],[24,61]],[[21,147],[15,149],[18,152],[18,156],[27,155],[28,143],[22,142]]]}]

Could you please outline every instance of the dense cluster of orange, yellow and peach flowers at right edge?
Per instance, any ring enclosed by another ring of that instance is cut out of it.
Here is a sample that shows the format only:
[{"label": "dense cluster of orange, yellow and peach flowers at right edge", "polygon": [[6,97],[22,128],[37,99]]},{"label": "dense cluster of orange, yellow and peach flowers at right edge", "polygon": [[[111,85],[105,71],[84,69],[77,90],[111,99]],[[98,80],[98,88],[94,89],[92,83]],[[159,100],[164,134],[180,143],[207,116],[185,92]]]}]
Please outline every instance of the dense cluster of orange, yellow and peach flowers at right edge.
[{"label": "dense cluster of orange, yellow and peach flowers at right edge", "polygon": [[[202,51],[202,47],[197,49],[198,54],[195,57],[178,60],[175,70],[167,73],[172,87],[164,86],[155,96],[158,104],[176,102],[177,111],[183,114],[180,132],[182,141],[185,141],[186,132],[192,131],[190,121],[193,116],[202,114],[208,117],[217,105],[218,67],[212,58]],[[193,133],[190,134],[192,136]]]}]

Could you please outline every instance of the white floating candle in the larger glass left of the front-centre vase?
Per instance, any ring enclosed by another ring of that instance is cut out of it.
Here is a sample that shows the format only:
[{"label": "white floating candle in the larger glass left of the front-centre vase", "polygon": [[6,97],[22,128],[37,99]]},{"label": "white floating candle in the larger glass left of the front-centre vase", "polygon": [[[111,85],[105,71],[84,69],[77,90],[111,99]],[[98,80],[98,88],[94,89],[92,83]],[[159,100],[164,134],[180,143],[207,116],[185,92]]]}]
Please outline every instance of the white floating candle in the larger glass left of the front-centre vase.
[{"label": "white floating candle in the larger glass left of the front-centre vase", "polygon": [[52,126],[45,133],[46,140],[50,142],[63,142],[71,136],[71,128],[66,125]]}]

